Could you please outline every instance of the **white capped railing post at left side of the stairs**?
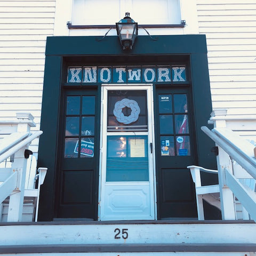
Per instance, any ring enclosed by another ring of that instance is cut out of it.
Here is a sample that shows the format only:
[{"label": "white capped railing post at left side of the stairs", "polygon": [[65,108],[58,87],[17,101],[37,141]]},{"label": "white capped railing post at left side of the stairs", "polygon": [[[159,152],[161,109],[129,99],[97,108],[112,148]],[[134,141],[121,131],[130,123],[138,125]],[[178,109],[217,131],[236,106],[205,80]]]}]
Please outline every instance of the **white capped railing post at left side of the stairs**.
[{"label": "white capped railing post at left side of the stairs", "polygon": [[[29,132],[30,127],[34,126],[33,115],[30,113],[17,113],[18,126],[17,132]],[[25,149],[28,149],[28,145],[22,147],[14,155],[14,162],[12,164],[13,171],[18,172],[17,188],[10,195],[9,210],[7,221],[21,221],[22,210],[23,210],[23,200],[24,200],[24,189],[26,180],[26,169],[27,169],[27,159],[24,156]]]}]

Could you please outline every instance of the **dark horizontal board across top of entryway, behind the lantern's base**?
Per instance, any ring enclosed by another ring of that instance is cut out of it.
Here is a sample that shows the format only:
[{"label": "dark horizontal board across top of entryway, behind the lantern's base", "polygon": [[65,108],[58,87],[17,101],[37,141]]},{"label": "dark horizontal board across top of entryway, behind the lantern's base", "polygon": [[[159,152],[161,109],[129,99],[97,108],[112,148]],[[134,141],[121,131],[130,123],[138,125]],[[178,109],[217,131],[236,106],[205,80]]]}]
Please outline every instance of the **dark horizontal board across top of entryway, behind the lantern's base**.
[{"label": "dark horizontal board across top of entryway, behind the lantern's base", "polygon": [[142,55],[207,53],[205,35],[138,36],[131,51],[123,51],[117,36],[47,37],[46,55]]}]

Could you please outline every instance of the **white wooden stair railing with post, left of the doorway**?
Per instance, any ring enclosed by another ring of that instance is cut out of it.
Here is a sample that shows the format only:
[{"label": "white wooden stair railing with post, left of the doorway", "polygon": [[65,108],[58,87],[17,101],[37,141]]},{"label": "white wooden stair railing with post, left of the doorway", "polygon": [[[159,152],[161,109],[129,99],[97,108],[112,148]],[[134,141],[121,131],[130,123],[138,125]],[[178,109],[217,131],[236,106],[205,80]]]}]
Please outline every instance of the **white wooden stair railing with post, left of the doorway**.
[{"label": "white wooden stair railing with post, left of the doorway", "polygon": [[[21,221],[27,158],[29,156],[25,157],[25,150],[28,150],[31,141],[43,133],[42,131],[30,133],[30,126],[35,127],[35,123],[33,122],[34,117],[31,114],[18,113],[17,118],[18,120],[13,121],[11,124],[12,126],[16,126],[17,132],[9,135],[5,134],[4,138],[0,140],[0,163],[6,161],[11,156],[13,158],[11,168],[4,167],[0,169],[0,206],[6,197],[9,196],[7,221]],[[3,124],[6,125],[6,122]],[[45,177],[46,170],[46,168],[43,168],[43,178]],[[41,179],[40,175],[39,179]],[[42,183],[42,180],[39,182]],[[38,201],[36,206],[38,206]]]}]

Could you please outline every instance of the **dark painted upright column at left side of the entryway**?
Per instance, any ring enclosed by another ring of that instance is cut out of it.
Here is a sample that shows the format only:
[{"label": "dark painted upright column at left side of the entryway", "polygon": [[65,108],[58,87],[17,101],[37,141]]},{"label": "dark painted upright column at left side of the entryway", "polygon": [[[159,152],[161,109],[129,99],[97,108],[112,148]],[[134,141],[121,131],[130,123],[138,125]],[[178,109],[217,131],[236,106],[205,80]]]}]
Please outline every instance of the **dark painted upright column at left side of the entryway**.
[{"label": "dark painted upright column at left side of the entryway", "polygon": [[54,207],[54,179],[56,170],[58,122],[61,84],[61,56],[46,56],[42,101],[41,130],[39,139],[38,166],[47,167],[44,184],[41,186],[39,221],[50,221]]}]

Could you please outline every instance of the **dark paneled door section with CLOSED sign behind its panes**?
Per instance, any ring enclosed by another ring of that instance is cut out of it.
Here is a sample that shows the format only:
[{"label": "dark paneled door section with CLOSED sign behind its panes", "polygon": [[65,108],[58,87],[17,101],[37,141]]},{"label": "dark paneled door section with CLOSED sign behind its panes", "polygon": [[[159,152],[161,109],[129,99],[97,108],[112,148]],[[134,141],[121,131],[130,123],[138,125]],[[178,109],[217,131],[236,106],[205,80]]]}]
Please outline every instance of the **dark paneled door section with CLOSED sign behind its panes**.
[{"label": "dark paneled door section with CLOSED sign behind its panes", "polygon": [[66,91],[63,99],[55,218],[93,220],[98,204],[97,90]]}]

